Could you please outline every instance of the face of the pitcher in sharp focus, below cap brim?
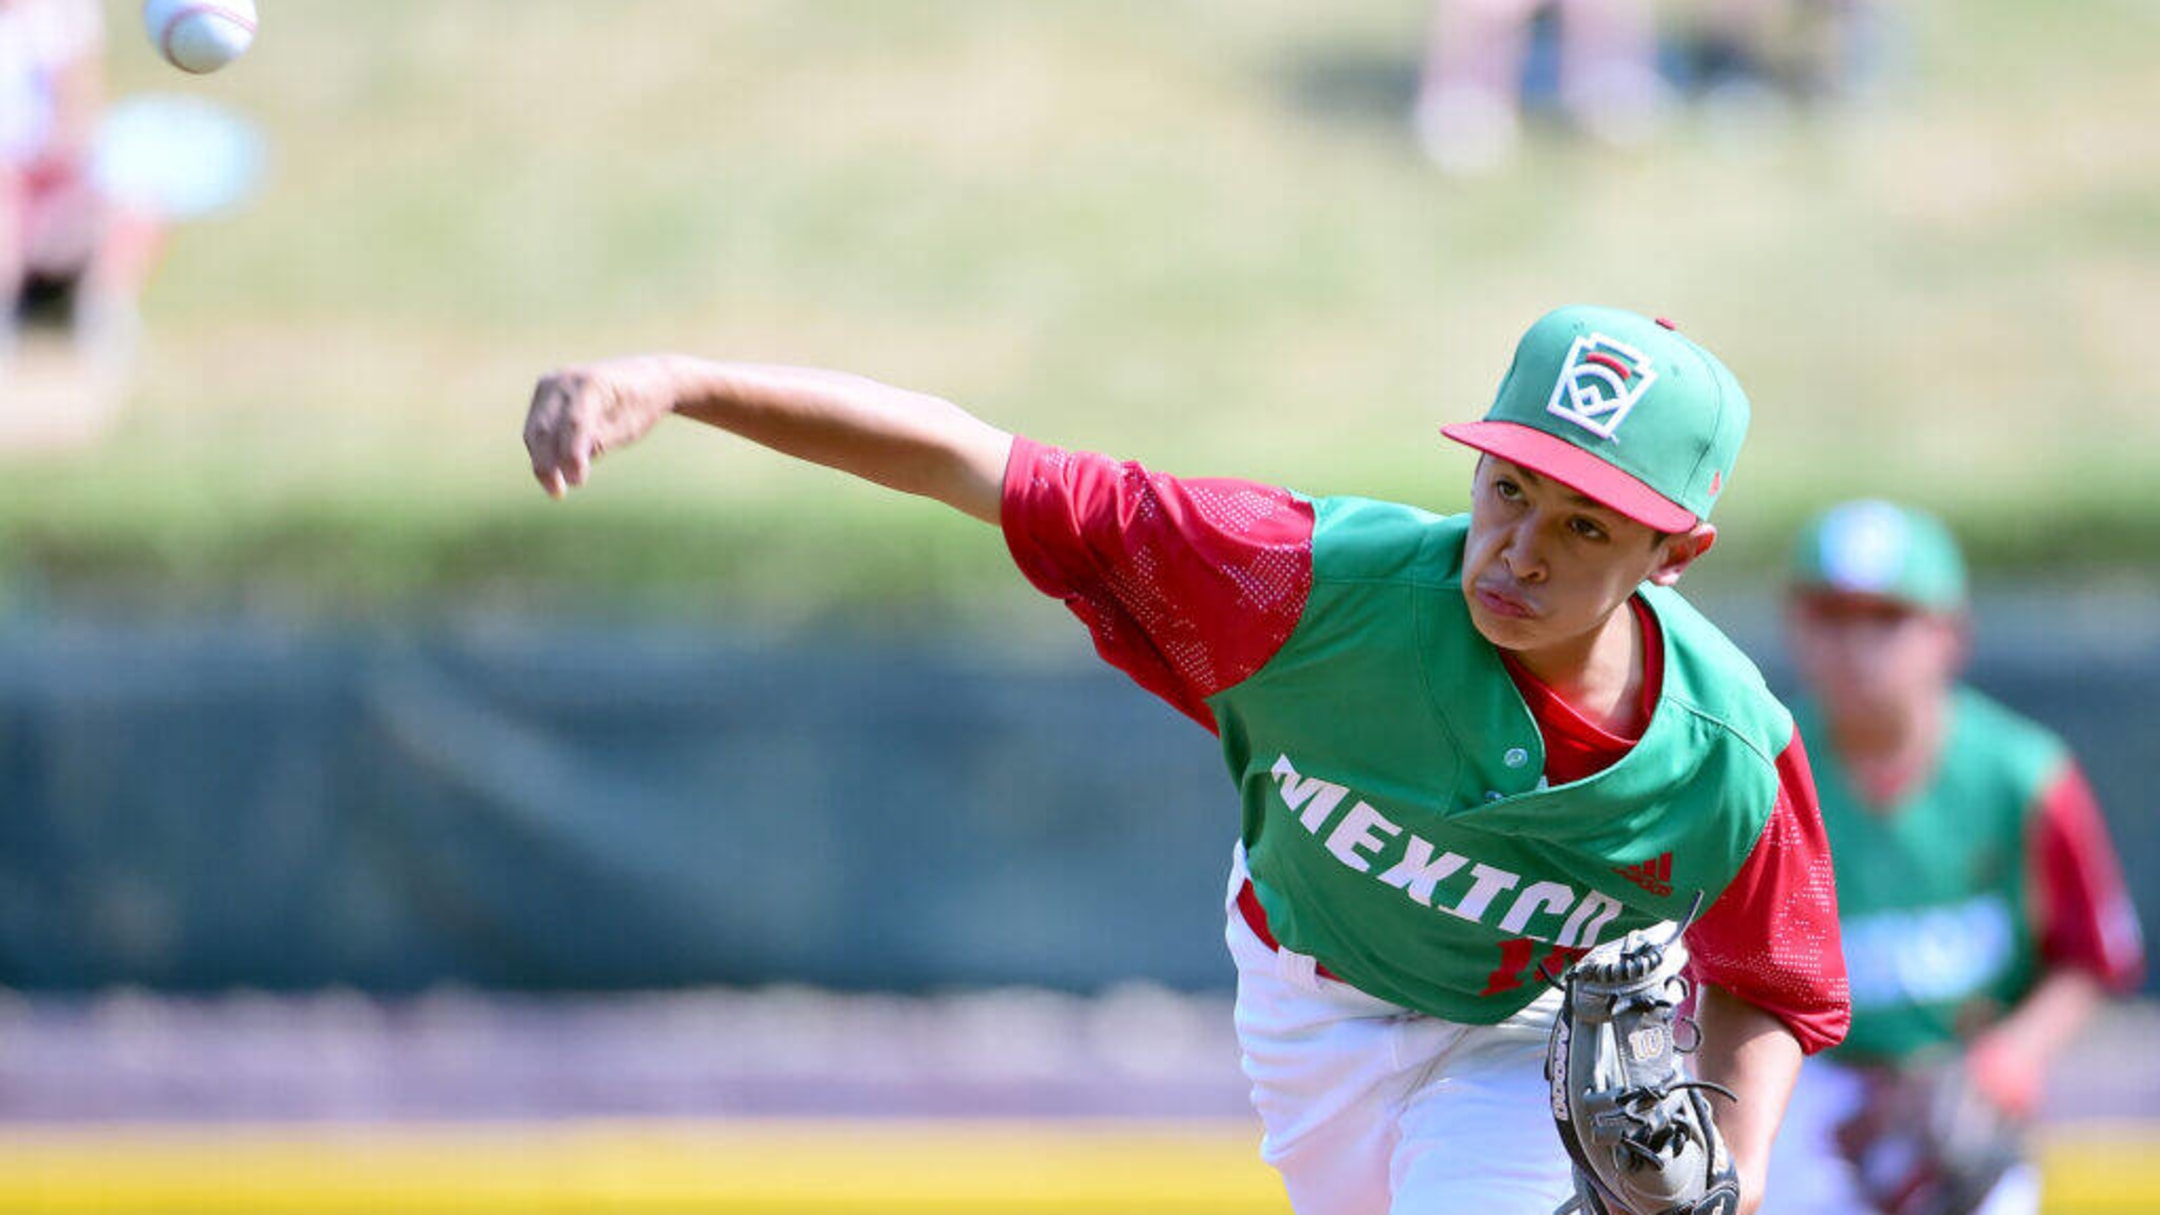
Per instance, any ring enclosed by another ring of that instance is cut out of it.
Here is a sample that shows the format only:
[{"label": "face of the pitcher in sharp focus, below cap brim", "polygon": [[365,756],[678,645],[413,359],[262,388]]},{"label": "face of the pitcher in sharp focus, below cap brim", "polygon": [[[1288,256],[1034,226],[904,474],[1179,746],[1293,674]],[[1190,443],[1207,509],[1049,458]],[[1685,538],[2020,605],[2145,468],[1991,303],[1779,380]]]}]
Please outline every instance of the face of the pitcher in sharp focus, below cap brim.
[{"label": "face of the pitcher in sharp focus, below cap brim", "polygon": [[[1644,582],[1670,586],[1717,532],[1650,528],[1497,456],[1477,463],[1462,597],[1488,642],[1564,668]],[[1534,662],[1534,668],[1538,664]]]}]

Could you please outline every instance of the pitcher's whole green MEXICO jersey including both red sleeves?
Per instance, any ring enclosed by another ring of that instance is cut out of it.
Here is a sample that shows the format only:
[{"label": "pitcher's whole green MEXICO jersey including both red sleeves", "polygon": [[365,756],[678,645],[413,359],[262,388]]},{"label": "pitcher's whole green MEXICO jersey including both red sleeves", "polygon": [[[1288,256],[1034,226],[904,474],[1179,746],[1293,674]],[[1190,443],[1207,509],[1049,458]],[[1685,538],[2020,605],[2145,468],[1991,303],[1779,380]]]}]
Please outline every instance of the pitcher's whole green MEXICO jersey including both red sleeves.
[{"label": "pitcher's whole green MEXICO jersey including both red sleeves", "polygon": [[1283,947],[1374,997],[1490,1025],[1577,953],[1700,895],[1698,975],[1810,1051],[1842,1033],[1830,858],[1793,720],[1676,592],[1637,592],[1663,642],[1642,739],[1553,783],[1462,597],[1467,517],[1022,439],[1004,532],[1106,659],[1220,735]]}]

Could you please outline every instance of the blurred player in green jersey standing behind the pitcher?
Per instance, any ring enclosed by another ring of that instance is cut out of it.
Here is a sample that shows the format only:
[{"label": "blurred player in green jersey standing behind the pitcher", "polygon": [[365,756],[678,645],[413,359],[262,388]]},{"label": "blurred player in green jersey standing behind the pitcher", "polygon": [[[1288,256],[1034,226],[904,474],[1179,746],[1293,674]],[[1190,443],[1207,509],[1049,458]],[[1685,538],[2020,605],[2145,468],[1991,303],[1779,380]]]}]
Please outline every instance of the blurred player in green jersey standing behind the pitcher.
[{"label": "blurred player in green jersey standing behind the pitcher", "polygon": [[[2138,921],[2106,824],[2063,739],[1957,681],[1966,569],[1933,517],[1851,502],[1810,523],[1786,625],[1853,1025],[1801,1070],[1765,1211],[1866,1211],[1862,1191],[1896,1206],[1899,1191],[1940,1183],[1972,1193],[1929,1209],[2037,1213],[2015,1135],[1989,1144],[1985,1129],[2015,1131],[2048,1057],[2106,990],[2138,982]],[[1983,1109],[1933,1118],[1929,1105],[1955,1105],[1942,1081],[1892,1109],[1944,1059]],[[1868,1161],[1866,1180],[1849,1157]]]}]

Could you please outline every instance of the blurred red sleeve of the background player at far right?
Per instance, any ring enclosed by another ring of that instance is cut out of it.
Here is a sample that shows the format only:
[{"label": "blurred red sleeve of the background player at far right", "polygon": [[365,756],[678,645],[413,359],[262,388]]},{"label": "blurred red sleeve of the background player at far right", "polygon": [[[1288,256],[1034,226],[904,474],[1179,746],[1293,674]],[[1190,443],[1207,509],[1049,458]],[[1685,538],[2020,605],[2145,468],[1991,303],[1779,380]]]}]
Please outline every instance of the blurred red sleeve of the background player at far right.
[{"label": "blurred red sleeve of the background player at far right", "polygon": [[2041,793],[2030,832],[2041,960],[2091,971],[2119,992],[2136,988],[2145,977],[2145,938],[2106,817],[2076,761]]}]

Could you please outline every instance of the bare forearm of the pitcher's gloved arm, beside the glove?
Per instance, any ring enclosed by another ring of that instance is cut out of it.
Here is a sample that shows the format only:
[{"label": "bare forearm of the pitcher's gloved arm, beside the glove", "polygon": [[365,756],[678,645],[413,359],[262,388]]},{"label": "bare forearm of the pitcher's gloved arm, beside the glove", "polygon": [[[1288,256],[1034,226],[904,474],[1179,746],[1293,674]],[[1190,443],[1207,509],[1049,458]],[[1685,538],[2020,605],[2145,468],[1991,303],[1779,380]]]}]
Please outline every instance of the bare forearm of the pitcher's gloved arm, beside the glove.
[{"label": "bare forearm of the pitcher's gloved arm, beside the glove", "polygon": [[1741,1174],[1741,1215],[1763,1202],[1769,1148],[1799,1077],[1799,1040],[1776,1016],[1713,986],[1702,988],[1696,1016],[1702,1049],[1696,1074],[1730,1087],[1739,1100],[1717,1100],[1717,1131]]}]

